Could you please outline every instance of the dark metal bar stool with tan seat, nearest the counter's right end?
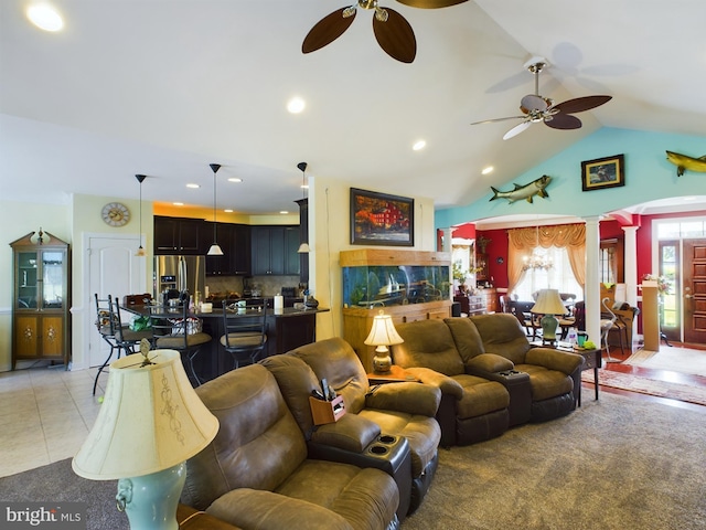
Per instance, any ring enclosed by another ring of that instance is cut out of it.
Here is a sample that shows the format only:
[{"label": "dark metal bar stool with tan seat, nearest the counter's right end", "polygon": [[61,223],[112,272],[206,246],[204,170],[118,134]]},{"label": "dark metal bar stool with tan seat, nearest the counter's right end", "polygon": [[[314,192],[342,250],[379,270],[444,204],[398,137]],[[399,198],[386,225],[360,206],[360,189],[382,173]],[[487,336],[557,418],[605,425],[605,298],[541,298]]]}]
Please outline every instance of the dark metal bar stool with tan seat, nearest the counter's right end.
[{"label": "dark metal bar stool with tan seat, nearest the counter's right end", "polygon": [[221,344],[233,357],[233,369],[254,364],[267,346],[267,306],[243,315],[223,300],[223,330]]}]

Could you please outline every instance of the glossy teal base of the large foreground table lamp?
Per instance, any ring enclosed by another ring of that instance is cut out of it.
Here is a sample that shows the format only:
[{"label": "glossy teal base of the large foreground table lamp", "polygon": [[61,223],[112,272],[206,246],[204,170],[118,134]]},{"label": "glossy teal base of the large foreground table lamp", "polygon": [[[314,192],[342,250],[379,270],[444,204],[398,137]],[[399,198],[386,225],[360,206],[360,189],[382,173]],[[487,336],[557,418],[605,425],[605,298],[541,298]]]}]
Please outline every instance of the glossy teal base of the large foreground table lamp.
[{"label": "glossy teal base of the large foreground table lamp", "polygon": [[130,530],[179,530],[176,507],[186,481],[182,462],[163,471],[118,480],[116,501],[125,510]]}]

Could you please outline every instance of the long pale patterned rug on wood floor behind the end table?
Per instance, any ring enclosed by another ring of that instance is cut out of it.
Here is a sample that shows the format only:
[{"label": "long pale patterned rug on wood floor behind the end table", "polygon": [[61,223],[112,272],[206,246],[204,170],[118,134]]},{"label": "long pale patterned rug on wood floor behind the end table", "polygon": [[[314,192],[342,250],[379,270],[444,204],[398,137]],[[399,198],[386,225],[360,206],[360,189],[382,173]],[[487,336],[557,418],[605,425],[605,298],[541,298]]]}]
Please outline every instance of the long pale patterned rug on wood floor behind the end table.
[{"label": "long pale patterned rug on wood floor behind the end table", "polygon": [[[586,370],[581,372],[581,381],[592,384],[593,371]],[[641,394],[656,395],[659,398],[706,405],[705,388],[671,383],[668,381],[659,381],[656,379],[650,379],[642,375],[613,372],[610,370],[598,371],[598,383],[612,389],[628,390],[630,392],[639,392]]]}]

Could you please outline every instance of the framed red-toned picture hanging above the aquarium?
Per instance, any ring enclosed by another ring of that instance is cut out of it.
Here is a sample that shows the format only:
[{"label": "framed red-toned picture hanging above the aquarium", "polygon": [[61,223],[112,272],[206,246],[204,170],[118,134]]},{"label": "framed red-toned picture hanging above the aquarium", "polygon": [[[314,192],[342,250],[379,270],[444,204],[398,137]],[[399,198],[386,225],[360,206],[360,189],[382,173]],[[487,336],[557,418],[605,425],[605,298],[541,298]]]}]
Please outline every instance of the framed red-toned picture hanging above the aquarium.
[{"label": "framed red-toned picture hanging above the aquarium", "polygon": [[415,244],[415,200],[351,188],[351,244]]}]

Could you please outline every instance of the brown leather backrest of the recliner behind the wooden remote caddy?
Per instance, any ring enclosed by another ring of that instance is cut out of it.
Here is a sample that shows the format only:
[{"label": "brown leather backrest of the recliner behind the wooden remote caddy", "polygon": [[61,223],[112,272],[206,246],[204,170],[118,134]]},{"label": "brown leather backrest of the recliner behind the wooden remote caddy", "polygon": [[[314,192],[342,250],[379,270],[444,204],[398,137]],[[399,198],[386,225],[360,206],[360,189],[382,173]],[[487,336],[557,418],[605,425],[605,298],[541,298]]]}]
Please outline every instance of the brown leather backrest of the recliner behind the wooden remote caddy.
[{"label": "brown leather backrest of the recliner behind the wooden remote caddy", "polygon": [[325,379],[336,394],[343,395],[347,413],[357,414],[365,407],[365,394],[370,389],[367,375],[363,363],[345,340],[340,337],[320,340],[301,346],[289,354],[304,361],[318,381]]}]

